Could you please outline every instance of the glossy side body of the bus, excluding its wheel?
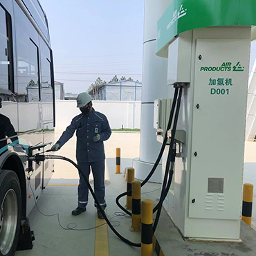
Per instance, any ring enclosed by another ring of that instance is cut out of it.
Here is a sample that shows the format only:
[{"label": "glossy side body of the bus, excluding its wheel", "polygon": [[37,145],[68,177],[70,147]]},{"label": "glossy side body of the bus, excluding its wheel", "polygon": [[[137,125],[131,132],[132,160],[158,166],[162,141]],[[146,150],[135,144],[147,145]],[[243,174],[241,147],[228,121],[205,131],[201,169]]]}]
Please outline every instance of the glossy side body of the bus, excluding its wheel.
[{"label": "glossy side body of the bus, excluding its wheel", "polygon": [[[33,172],[27,172],[26,151],[15,149],[17,144],[27,149],[55,141],[53,63],[47,20],[40,8],[37,0],[0,0],[0,166],[10,166],[8,158],[15,154],[22,163],[22,170],[15,172],[30,177],[26,182],[21,179],[21,186],[26,187],[26,214],[35,205],[31,195],[39,199],[54,170],[54,162],[49,160],[33,163]],[[5,123],[10,131],[1,136]]]}]

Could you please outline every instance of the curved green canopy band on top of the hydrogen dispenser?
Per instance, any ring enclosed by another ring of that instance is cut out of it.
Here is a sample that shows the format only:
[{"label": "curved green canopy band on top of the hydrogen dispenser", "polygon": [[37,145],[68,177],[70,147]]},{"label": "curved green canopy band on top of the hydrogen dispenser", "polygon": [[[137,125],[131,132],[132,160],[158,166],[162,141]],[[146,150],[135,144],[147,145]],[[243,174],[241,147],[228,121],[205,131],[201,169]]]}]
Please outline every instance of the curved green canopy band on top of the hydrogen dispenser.
[{"label": "curved green canopy band on top of the hydrogen dispenser", "polygon": [[255,0],[173,0],[157,24],[156,52],[176,35],[211,26],[255,26]]}]

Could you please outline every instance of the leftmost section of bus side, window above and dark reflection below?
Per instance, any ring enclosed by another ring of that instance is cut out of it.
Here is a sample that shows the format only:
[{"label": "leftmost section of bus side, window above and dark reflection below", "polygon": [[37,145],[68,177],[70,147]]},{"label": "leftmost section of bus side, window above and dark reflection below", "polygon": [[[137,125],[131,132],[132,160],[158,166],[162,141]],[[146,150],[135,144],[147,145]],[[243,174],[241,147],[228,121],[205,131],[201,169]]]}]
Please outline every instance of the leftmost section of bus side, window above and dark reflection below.
[{"label": "leftmost section of bus side, window above and dark reflection below", "polygon": [[12,3],[0,3],[0,156],[17,143],[18,116],[14,93]]}]

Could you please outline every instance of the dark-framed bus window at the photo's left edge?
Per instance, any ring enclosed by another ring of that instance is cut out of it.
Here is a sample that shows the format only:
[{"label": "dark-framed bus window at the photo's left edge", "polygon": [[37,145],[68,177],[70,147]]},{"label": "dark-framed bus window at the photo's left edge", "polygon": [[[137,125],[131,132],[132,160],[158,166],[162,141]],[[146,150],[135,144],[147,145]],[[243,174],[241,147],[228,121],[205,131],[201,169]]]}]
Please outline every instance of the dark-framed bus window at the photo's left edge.
[{"label": "dark-framed bus window at the photo's left edge", "polygon": [[13,88],[11,19],[0,5],[0,89],[13,92]]}]

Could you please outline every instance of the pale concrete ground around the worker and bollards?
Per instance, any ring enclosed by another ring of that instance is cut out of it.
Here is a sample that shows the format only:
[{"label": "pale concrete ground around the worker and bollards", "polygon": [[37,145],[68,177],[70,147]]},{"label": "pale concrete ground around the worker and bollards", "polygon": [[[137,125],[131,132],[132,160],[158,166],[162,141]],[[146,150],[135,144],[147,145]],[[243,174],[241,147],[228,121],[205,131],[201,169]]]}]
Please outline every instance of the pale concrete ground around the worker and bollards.
[{"label": "pale concrete ground around the worker and bollards", "polygon": [[[56,132],[56,139],[61,135],[60,131]],[[120,209],[115,203],[116,196],[126,190],[124,170],[125,167],[132,165],[132,159],[139,156],[139,133],[117,133],[114,132],[109,140],[105,142],[106,160],[106,201],[107,215],[113,218],[113,225],[125,238],[134,242],[140,241],[139,232],[131,232],[131,218],[127,216],[116,216]],[[121,172],[115,174],[116,171],[116,147],[121,148]],[[75,136],[66,143],[66,145],[57,152],[58,155],[66,156],[75,161]],[[246,142],[246,150],[244,157],[244,183],[253,183],[256,185],[256,143]],[[38,201],[38,208],[44,214],[60,214],[60,223],[64,228],[68,223],[73,223],[77,229],[88,229],[98,225],[98,218],[93,207],[93,199],[90,196],[89,206],[86,212],[80,216],[73,217],[71,211],[77,206],[77,184],[78,174],[75,167],[64,161],[55,161],[55,174],[50,181],[50,185],[44,190],[44,194]],[[93,177],[90,177],[92,180]],[[143,187],[142,199],[152,199],[154,204],[160,194],[160,184],[148,183]],[[156,191],[154,191],[156,190]],[[151,192],[154,191],[154,192]],[[149,192],[149,193],[147,193]],[[256,197],[256,190],[254,198]],[[125,205],[125,198],[121,200]],[[256,208],[255,208],[256,209]],[[116,214],[115,214],[116,213]],[[163,220],[170,221],[166,213],[163,211]],[[98,230],[64,230],[58,224],[57,216],[45,217],[40,214],[36,208],[29,215],[30,225],[35,231],[36,240],[34,241],[33,250],[17,252],[17,256],[30,255],[140,255],[140,248],[128,246],[122,242],[108,228],[104,233],[103,229]],[[96,223],[97,221],[97,223]],[[116,222],[119,221],[119,222]],[[74,224],[75,223],[75,224]],[[172,222],[168,222],[170,230]],[[104,227],[104,226],[103,226]],[[256,228],[256,210],[253,210],[253,228]],[[165,235],[167,228],[165,221],[160,221],[156,235],[160,237],[170,237]],[[104,235],[100,237],[100,235]],[[108,243],[104,243],[107,241]],[[164,246],[163,246],[164,247]],[[165,249],[166,250],[166,249]],[[191,253],[191,252],[188,252]],[[209,252],[210,253],[210,252]],[[165,255],[168,255],[165,253]],[[169,254],[170,255],[170,254]],[[184,254],[184,255],[211,255],[215,254]],[[219,255],[219,254],[216,254]],[[221,255],[221,254],[220,254]],[[232,254],[231,254],[232,255]],[[234,254],[237,255],[237,254]],[[244,254],[239,254],[244,255]],[[247,254],[246,254],[247,255]]]}]

